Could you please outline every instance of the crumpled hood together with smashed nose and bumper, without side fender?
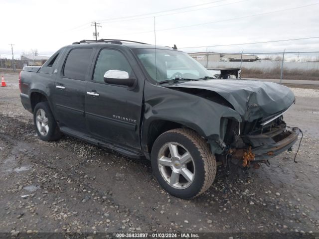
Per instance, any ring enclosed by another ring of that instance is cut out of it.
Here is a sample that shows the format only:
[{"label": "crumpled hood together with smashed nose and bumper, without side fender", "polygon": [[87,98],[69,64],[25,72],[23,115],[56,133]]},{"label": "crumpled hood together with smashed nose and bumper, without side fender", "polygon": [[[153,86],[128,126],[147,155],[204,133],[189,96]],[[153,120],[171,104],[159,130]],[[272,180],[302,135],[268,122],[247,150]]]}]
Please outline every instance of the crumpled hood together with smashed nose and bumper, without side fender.
[{"label": "crumpled hood together with smashed nose and bumper, without side fender", "polygon": [[298,139],[300,129],[287,127],[283,120],[283,114],[295,103],[293,92],[285,86],[249,80],[211,80],[181,83],[173,88],[191,94],[202,91],[196,95],[217,104],[222,102],[216,98],[220,96],[228,103],[223,104],[225,108],[240,115],[240,119],[230,119],[224,111],[215,112],[220,115],[220,132],[207,139],[212,153],[224,163],[228,159],[243,166],[267,163]]}]

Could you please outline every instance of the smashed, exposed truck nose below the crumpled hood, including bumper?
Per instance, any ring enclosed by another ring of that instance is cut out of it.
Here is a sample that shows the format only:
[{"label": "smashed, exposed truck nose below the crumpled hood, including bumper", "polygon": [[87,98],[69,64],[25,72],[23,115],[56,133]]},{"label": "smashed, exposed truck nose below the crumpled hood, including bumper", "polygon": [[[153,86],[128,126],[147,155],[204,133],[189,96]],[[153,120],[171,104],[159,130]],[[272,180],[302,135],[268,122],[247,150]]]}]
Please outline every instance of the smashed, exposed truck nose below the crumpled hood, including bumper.
[{"label": "smashed, exposed truck nose below the crumpled hood, including bumper", "polygon": [[228,146],[225,154],[232,163],[244,167],[250,166],[251,162],[268,163],[268,159],[291,149],[300,133],[297,127],[288,128],[282,115],[271,121],[231,122],[228,129],[232,134],[225,138]]}]

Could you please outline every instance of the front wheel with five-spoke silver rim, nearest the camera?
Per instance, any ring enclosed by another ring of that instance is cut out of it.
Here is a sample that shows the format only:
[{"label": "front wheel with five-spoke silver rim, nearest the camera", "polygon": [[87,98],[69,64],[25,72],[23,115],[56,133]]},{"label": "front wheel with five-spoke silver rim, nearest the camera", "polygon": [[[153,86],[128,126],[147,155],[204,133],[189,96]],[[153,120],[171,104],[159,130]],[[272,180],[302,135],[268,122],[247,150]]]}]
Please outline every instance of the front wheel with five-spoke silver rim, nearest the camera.
[{"label": "front wheel with five-spoke silver rim, nearest the camera", "polygon": [[162,133],[153,144],[151,163],[160,186],[182,199],[205,192],[216,175],[216,159],[207,143],[186,128]]}]

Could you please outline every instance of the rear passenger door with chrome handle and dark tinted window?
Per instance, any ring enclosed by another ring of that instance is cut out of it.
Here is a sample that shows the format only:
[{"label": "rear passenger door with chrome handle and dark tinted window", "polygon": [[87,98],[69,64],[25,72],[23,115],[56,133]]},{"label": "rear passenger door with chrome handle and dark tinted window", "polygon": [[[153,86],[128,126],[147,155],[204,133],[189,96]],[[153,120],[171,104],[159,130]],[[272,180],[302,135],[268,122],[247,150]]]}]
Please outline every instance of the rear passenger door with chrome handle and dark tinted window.
[{"label": "rear passenger door with chrome handle and dark tinted window", "polygon": [[93,60],[93,48],[75,47],[69,50],[56,77],[53,102],[61,127],[85,131],[84,101],[86,83]]}]

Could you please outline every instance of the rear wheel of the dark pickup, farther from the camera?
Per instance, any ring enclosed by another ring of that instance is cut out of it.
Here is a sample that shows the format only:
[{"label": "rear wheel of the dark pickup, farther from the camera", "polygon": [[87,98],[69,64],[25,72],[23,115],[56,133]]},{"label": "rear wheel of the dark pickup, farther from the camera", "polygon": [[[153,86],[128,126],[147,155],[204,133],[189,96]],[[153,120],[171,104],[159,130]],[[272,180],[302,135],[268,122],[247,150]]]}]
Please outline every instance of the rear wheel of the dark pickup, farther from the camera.
[{"label": "rear wheel of the dark pickup, farther from the camera", "polygon": [[48,102],[36,104],[33,111],[34,126],[41,140],[52,141],[61,138],[59,126],[54,119]]}]

